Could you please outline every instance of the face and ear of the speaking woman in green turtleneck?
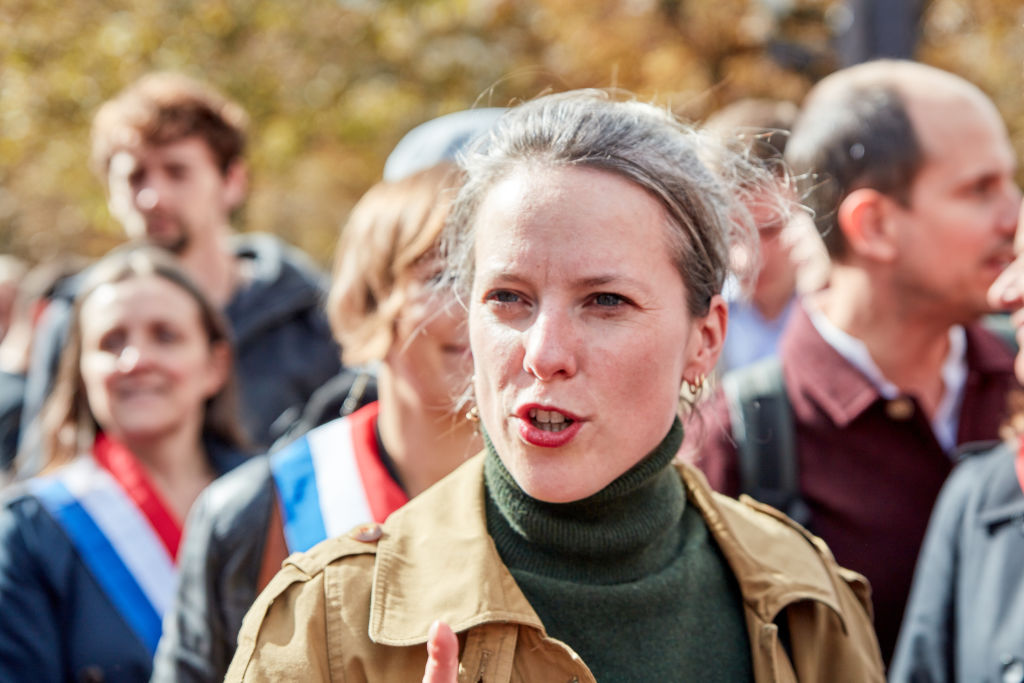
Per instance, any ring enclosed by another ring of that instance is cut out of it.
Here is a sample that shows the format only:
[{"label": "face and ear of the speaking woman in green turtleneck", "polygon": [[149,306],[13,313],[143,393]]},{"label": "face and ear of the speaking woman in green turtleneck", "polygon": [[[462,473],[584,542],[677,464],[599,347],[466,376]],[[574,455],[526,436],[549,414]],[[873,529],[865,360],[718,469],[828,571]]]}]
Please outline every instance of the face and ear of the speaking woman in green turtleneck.
[{"label": "face and ear of the speaking woman in green turtleneck", "polygon": [[720,297],[692,317],[660,204],[609,172],[518,169],[476,216],[474,388],[529,496],[595,494],[666,436],[684,378],[714,366]]}]

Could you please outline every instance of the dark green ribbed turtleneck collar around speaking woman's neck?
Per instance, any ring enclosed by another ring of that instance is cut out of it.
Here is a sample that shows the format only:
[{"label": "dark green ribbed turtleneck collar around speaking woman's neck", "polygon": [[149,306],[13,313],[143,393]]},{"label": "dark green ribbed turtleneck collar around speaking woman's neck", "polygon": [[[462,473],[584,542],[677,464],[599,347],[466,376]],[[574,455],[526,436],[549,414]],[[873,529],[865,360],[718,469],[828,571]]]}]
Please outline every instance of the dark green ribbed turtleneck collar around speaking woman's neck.
[{"label": "dark green ribbed turtleneck collar around speaking woman's neck", "polygon": [[677,418],[662,442],[598,493],[545,503],[524,493],[484,434],[487,530],[512,569],[611,584],[665,566],[678,551],[686,493],[671,463],[683,440]]}]

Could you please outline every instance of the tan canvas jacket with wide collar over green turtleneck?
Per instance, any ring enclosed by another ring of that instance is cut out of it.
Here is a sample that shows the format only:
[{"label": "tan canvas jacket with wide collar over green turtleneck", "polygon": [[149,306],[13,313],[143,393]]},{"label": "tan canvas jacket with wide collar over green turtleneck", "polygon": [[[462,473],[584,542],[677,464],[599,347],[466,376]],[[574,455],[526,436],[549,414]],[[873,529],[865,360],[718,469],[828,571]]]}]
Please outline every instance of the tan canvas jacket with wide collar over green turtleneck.
[{"label": "tan canvas jacket with wide collar over green turtleneck", "polygon": [[[738,580],[756,680],[884,681],[863,578],[775,510],[678,468]],[[460,682],[593,681],[502,563],[483,500],[477,456],[383,526],[288,558],[246,616],[225,680],[420,681],[439,618],[459,634]],[[790,653],[775,624],[783,612]]]}]

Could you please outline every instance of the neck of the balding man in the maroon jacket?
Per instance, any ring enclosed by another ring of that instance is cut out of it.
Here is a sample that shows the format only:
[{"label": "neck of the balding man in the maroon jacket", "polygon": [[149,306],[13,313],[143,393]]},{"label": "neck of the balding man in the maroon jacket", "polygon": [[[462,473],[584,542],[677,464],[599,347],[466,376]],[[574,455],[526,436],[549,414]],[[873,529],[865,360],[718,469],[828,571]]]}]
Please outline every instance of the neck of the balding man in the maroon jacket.
[{"label": "neck of the balding man in the maroon jacket", "polygon": [[836,267],[833,285],[813,303],[833,325],[857,338],[886,379],[913,395],[931,416],[944,391],[941,369],[956,321],[907,305],[892,288],[857,268]]}]

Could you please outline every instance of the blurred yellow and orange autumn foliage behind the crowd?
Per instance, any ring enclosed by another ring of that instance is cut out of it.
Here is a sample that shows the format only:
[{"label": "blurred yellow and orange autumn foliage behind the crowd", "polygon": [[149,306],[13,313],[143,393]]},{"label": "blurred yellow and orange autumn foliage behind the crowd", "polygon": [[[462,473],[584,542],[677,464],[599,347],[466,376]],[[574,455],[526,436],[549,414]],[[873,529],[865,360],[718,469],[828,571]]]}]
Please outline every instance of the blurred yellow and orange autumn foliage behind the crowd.
[{"label": "blurred yellow and orange autumn foliage behind the crowd", "polygon": [[[915,57],[989,93],[1024,159],[1024,3],[921,4]],[[838,0],[4,0],[0,252],[96,256],[121,240],[87,168],[89,123],[152,70],[206,79],[246,106],[252,191],[239,229],[276,232],[327,264],[352,204],[425,120],[589,86],[695,120],[741,96],[799,99],[839,63],[840,9]]]}]

